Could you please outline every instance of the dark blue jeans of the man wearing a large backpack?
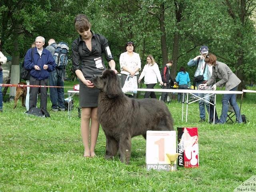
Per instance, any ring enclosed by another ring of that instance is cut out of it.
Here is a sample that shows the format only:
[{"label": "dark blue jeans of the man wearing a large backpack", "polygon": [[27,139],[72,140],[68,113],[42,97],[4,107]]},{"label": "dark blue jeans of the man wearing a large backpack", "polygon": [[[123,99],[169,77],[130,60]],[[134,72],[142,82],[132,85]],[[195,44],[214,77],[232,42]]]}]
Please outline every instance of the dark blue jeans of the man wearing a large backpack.
[{"label": "dark blue jeans of the man wearing a large backpack", "polygon": [[[64,69],[56,68],[50,72],[49,76],[50,86],[64,86]],[[52,108],[57,109],[65,108],[64,105],[64,88],[50,88],[50,99],[52,102]]]}]

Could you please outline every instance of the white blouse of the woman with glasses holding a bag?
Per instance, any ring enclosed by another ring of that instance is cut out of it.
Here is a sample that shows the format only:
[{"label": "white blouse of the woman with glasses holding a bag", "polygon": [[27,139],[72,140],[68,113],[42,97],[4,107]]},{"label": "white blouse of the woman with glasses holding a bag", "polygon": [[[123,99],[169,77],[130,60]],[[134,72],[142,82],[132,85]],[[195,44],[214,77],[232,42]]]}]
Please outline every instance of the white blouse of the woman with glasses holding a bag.
[{"label": "white blouse of the woman with glasses holding a bag", "polygon": [[[128,67],[133,71],[135,71],[136,68],[139,68],[139,69],[141,68],[140,55],[135,52],[133,52],[132,56],[128,55],[127,52],[122,53],[119,58],[119,63],[120,63],[121,74],[130,75],[130,73],[123,70],[122,67]],[[137,71],[135,75],[138,75],[138,74],[139,72]]]}]

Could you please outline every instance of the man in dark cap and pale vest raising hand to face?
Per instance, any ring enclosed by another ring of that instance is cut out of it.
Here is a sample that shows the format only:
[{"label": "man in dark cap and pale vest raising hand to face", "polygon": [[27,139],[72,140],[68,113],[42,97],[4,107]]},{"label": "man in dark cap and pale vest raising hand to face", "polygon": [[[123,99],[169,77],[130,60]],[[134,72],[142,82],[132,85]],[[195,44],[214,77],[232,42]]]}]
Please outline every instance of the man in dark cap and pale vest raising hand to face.
[{"label": "man in dark cap and pale vest raising hand to face", "polygon": [[[207,46],[202,46],[200,47],[200,55],[196,56],[194,59],[190,60],[188,62],[188,66],[197,66],[196,72],[194,74],[194,77],[197,77],[199,75],[203,75],[204,78],[202,80],[199,80],[196,82],[196,87],[198,88],[200,84],[206,83],[210,77],[211,77],[211,72],[212,72],[212,67],[209,67],[205,62],[204,58],[208,54],[208,47]],[[210,94],[203,94],[199,93],[198,96],[200,98],[204,98],[206,101],[210,101]],[[205,121],[205,106],[207,111],[209,112],[209,103],[204,102],[203,100],[199,100],[199,111],[200,111],[200,120],[199,122],[204,122]]]}]

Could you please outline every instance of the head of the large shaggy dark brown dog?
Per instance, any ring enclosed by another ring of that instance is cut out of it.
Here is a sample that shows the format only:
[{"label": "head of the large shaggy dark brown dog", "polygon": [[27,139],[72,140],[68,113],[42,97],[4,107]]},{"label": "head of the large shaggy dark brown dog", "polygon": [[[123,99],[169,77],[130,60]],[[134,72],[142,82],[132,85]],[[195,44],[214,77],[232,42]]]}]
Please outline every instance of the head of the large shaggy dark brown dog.
[{"label": "head of the large shaggy dark brown dog", "polygon": [[104,70],[102,75],[94,75],[91,82],[100,89],[108,98],[115,98],[122,94],[122,88],[118,76],[113,70]]}]

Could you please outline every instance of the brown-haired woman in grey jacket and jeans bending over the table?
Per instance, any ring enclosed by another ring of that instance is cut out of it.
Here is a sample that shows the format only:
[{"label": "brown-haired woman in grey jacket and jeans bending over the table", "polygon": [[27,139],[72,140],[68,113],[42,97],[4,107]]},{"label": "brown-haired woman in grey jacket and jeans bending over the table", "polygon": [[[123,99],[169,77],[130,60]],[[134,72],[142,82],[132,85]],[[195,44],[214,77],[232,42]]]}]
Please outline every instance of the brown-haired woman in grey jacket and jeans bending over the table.
[{"label": "brown-haired woman in grey jacket and jeans bending over the table", "polygon": [[[204,62],[208,64],[208,66],[212,66],[212,76],[206,84],[200,84],[199,86],[210,86],[212,85],[212,89],[216,90],[217,86],[225,85],[226,91],[236,91],[238,84],[240,84],[241,80],[231,71],[231,69],[224,63],[218,62],[217,58],[214,54],[206,55]],[[216,82],[216,79],[220,79]],[[216,83],[215,83],[216,82]],[[215,84],[214,84],[215,83]],[[220,115],[220,124],[226,123],[227,114],[228,114],[228,102],[233,107],[234,112],[236,114],[236,120],[238,123],[242,123],[242,116],[240,114],[240,109],[238,104],[236,103],[236,94],[223,94],[222,97],[222,111]]]}]

